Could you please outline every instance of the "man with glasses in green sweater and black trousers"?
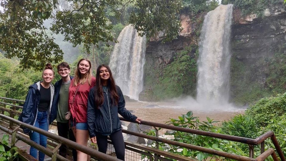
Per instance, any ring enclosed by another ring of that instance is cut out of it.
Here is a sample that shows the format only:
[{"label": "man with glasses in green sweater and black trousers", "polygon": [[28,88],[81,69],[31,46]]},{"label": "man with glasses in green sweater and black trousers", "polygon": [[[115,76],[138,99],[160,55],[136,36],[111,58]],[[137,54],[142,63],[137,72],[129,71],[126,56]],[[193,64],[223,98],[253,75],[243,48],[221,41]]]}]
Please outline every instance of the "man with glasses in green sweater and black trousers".
[{"label": "man with glasses in green sweater and black trousers", "polygon": [[[52,112],[54,118],[57,119],[57,132],[58,135],[64,138],[69,138],[71,141],[76,141],[72,130],[69,128],[69,120],[65,119],[65,113],[69,108],[69,86],[71,84],[72,76],[69,75],[71,69],[67,62],[61,62],[57,65],[57,73],[62,79],[55,83],[55,97],[53,101]],[[59,154],[66,158],[66,145],[62,144],[59,149]],[[74,161],[77,161],[77,151],[72,149],[72,157]]]}]

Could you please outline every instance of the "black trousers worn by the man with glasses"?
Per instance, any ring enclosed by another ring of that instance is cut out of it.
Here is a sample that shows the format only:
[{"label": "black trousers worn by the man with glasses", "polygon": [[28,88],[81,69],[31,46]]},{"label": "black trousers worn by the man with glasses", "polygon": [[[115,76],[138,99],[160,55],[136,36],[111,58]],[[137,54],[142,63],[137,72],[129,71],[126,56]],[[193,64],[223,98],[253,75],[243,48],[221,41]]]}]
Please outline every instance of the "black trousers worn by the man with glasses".
[{"label": "black trousers worn by the man with glasses", "polygon": [[[75,137],[71,129],[69,129],[69,123],[61,123],[57,122],[57,133],[59,136],[64,137],[66,139],[69,138],[69,140],[75,142]],[[59,154],[66,158],[66,145],[62,144],[59,148]],[[77,150],[72,149],[72,157],[74,158],[74,161],[77,161]]]}]

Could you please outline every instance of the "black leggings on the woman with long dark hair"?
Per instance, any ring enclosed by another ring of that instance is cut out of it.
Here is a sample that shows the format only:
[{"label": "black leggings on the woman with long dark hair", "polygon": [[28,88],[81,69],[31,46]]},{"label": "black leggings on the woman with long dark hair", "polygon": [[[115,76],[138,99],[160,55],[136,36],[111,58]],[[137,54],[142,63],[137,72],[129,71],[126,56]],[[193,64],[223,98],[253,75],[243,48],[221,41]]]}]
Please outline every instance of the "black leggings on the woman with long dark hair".
[{"label": "black leggings on the woman with long dark hair", "polygon": [[[107,135],[101,135],[100,133],[95,132],[96,141],[98,146],[98,151],[105,153],[107,151]],[[119,130],[117,132],[109,135],[111,142],[115,149],[116,157],[120,160],[125,160],[125,144],[123,140],[122,131]]]}]

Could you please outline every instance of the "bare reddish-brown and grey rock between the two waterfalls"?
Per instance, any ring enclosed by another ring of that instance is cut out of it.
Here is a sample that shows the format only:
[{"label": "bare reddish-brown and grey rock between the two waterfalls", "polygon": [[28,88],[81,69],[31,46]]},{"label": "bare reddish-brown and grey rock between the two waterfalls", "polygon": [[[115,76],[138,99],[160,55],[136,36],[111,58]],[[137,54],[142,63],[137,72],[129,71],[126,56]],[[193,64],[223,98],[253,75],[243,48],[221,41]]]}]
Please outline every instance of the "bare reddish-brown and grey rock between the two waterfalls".
[{"label": "bare reddish-brown and grey rock between the two waterfalls", "polygon": [[[198,20],[203,21],[203,16],[198,16]],[[175,53],[180,52],[186,46],[198,44],[198,28],[200,21],[192,23],[192,20],[187,15],[181,15],[182,31],[177,39],[172,42],[161,43],[162,34],[152,38],[146,44],[145,65],[144,65],[144,88],[149,88],[150,83],[146,85],[147,77],[156,77],[153,71],[161,71],[167,64],[170,64],[174,59]],[[195,51],[194,51],[195,53]],[[190,54],[194,54],[190,53]],[[157,73],[158,74],[158,73]],[[156,79],[155,78],[155,79]]]}]

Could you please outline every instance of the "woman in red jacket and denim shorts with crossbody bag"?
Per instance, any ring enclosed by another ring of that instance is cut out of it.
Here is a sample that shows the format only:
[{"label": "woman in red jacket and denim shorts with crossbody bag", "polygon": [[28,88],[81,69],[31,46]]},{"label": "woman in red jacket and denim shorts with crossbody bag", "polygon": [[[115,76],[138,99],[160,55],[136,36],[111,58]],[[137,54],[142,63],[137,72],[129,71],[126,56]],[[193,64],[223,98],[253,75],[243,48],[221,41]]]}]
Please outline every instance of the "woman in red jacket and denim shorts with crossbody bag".
[{"label": "woman in red jacket and denim shorts with crossbody bag", "polygon": [[[90,60],[83,58],[77,63],[74,79],[69,87],[69,110],[72,115],[71,126],[73,127],[76,142],[87,146],[89,135],[87,125],[87,100],[89,90],[95,85],[95,77],[92,76]],[[75,127],[75,128],[74,128]],[[77,151],[77,160],[89,161],[90,156]]]}]

